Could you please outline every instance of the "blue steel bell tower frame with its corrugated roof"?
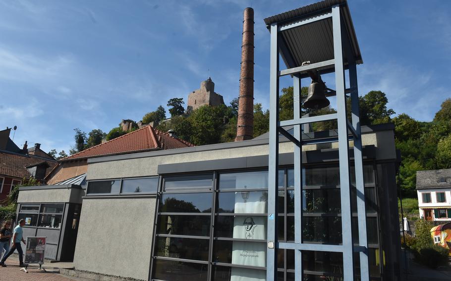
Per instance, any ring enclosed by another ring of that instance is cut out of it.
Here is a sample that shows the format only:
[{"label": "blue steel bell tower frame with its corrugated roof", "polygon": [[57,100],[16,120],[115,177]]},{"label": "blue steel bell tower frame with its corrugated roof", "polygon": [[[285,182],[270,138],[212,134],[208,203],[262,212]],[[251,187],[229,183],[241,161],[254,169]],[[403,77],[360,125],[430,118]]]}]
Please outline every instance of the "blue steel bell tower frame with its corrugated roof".
[{"label": "blue steel bell tower frame with its corrugated roof", "polygon": [[[270,47],[270,132],[269,132],[269,194],[268,194],[268,248],[267,280],[277,280],[277,249],[293,249],[295,254],[295,280],[303,280],[302,251],[340,252],[343,255],[343,279],[369,280],[368,242],[366,228],[365,196],[363,186],[362,141],[359,122],[359,104],[356,64],[362,63],[355,32],[345,0],[325,0],[296,10],[265,19],[271,33]],[[315,24],[323,29],[315,28]],[[304,28],[304,29],[303,29]],[[318,30],[323,33],[319,33]],[[329,35],[329,36],[328,36]],[[307,38],[309,37],[310,38]],[[329,42],[328,42],[329,39]],[[321,47],[318,42],[321,41]],[[324,55],[326,54],[326,55]],[[328,56],[329,54],[329,56]],[[287,69],[280,70],[282,57]],[[309,61],[307,62],[308,59]],[[304,61],[305,60],[305,61]],[[304,62],[304,63],[303,63]],[[348,70],[349,88],[345,85],[345,70]],[[301,79],[309,77],[308,72],[319,74],[335,73],[337,113],[313,117],[301,117]],[[294,119],[279,120],[279,78],[290,75],[293,78]],[[346,114],[346,102],[351,103],[351,120]],[[302,126],[309,123],[337,120],[338,137],[303,140]],[[294,126],[294,134],[283,127]],[[294,147],[294,243],[278,242],[278,170],[279,135],[293,142]],[[358,244],[353,243],[350,151],[353,141],[353,163],[356,180]],[[341,201],[341,244],[314,244],[302,238],[302,145],[338,142],[340,201]],[[360,272],[354,272],[358,252]]]}]

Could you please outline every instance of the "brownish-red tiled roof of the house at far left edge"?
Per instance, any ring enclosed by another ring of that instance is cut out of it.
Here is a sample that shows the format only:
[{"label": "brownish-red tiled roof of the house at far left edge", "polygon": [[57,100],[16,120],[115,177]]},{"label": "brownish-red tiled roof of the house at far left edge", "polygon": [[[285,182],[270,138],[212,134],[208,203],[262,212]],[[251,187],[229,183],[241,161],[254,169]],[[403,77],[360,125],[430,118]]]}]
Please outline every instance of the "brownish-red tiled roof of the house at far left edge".
[{"label": "brownish-red tiled roof of the house at far left edge", "polygon": [[31,154],[20,154],[10,151],[0,151],[0,175],[29,178],[31,177],[26,167],[39,163],[47,163],[46,176],[56,167],[56,160],[39,157]]}]

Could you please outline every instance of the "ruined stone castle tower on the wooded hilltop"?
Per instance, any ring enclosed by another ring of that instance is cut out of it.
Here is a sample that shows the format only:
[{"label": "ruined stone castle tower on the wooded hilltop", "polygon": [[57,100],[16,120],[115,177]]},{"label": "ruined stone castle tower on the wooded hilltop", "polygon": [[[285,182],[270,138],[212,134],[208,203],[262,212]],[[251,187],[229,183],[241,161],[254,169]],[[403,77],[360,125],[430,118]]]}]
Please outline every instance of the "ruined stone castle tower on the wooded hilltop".
[{"label": "ruined stone castle tower on the wooded hilltop", "polygon": [[188,108],[186,109],[186,113],[189,114],[202,105],[217,106],[220,104],[224,104],[224,98],[222,95],[215,93],[215,83],[209,77],[206,81],[202,81],[200,89],[188,95]]}]

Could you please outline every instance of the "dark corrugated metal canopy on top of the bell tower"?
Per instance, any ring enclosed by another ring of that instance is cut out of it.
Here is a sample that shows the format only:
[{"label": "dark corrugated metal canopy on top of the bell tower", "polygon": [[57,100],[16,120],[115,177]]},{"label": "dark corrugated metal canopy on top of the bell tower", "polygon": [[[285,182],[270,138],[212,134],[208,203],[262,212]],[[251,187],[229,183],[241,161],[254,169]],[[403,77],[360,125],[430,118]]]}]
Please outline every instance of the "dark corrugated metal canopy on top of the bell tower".
[{"label": "dark corrugated metal canopy on top of the bell tower", "polygon": [[[343,23],[355,61],[357,64],[363,63],[346,0],[324,0],[265,18],[265,23],[268,29],[273,23],[278,23],[278,26],[285,26],[302,19],[329,13],[332,11],[332,6],[334,5],[340,5]],[[282,35],[280,39],[283,40],[286,46],[286,49],[281,49],[281,55],[289,68],[301,66],[304,61],[316,63],[334,59],[334,38],[331,17],[286,29],[281,31],[280,34]],[[289,63],[289,60],[287,60],[288,57],[292,58],[292,63]],[[346,56],[344,58],[347,62]]]}]

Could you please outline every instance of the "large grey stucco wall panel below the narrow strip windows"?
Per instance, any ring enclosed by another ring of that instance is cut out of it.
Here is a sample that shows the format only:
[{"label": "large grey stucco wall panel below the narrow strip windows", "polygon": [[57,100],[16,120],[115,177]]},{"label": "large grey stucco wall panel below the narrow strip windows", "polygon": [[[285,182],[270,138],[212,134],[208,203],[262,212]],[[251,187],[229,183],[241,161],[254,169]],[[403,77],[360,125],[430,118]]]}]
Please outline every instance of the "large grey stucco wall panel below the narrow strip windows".
[{"label": "large grey stucco wall panel below the narrow strip windows", "polygon": [[74,267],[148,280],[155,198],[84,199]]}]

